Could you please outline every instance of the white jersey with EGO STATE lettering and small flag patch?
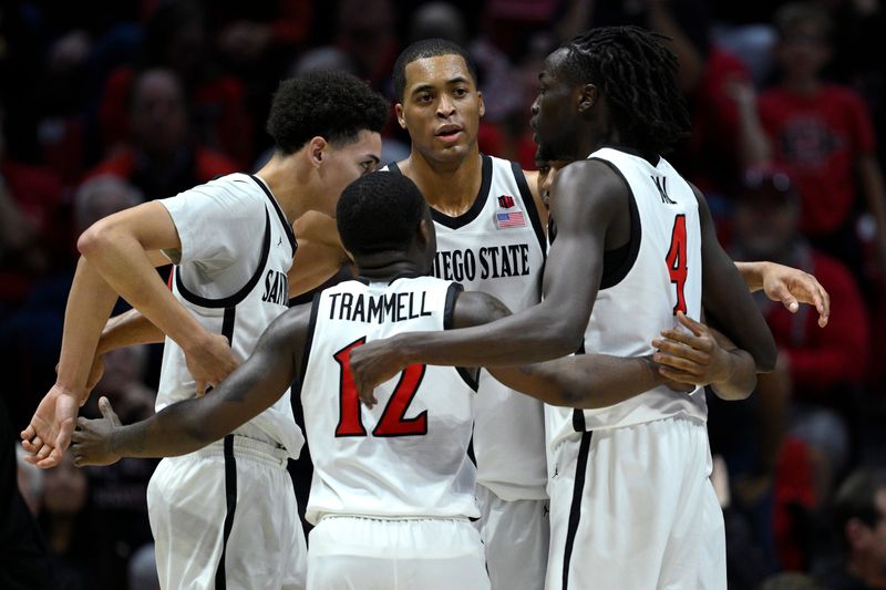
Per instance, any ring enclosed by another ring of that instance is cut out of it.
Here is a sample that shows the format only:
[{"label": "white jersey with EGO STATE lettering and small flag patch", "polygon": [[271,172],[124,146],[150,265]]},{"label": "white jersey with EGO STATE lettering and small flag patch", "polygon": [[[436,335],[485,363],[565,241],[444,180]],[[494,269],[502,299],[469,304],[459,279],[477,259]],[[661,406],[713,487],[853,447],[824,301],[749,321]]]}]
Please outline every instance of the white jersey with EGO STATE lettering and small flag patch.
[{"label": "white jersey with EGO STATE lettering and small flag patch", "polygon": [[[433,208],[431,215],[437,278],[493,294],[515,313],[540,301],[545,232],[518,164],[484,155],[474,205],[459,217]],[[477,482],[506,500],[546,498],[544,444],[542,403],[484,370],[474,428]]]}]

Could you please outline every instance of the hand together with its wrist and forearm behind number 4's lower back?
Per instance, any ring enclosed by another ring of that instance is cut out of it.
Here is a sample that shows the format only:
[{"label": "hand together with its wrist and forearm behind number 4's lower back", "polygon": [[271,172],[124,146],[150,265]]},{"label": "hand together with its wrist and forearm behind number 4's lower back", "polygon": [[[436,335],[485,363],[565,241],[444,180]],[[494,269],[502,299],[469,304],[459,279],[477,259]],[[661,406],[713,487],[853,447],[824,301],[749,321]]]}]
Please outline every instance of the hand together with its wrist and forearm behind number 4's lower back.
[{"label": "hand together with its wrist and forearm behind number 4's lower back", "polygon": [[678,383],[710,385],[718,397],[744,400],[756,386],[753,358],[719,331],[677,312],[686,330],[663,330],[652,340],[658,372]]}]

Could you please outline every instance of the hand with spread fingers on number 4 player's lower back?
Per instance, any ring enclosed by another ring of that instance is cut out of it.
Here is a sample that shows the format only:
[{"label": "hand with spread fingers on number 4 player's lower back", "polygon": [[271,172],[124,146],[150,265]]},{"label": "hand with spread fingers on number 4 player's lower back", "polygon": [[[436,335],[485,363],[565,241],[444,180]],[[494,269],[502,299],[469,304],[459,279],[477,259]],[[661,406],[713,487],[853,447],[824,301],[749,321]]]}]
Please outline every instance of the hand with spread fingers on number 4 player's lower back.
[{"label": "hand with spread fingers on number 4 player's lower back", "polygon": [[677,312],[677,320],[691,333],[682,330],[663,330],[661,338],[652,340],[658,349],[652,360],[660,364],[662,376],[679,383],[710,385],[729,379],[729,352],[723,350],[703,323]]}]

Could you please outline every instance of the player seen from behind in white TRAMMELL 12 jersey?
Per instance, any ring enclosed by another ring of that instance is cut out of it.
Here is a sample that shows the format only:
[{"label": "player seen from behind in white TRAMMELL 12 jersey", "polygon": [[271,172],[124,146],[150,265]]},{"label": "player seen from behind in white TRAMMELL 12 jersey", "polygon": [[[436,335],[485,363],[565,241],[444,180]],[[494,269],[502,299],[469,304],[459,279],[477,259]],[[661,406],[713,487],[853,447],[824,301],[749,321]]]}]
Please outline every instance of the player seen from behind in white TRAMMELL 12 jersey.
[{"label": "player seen from behind in white TRAMMELL 12 jersey", "polygon": [[[507,310],[491,296],[425,277],[436,252],[434,227],[408,178],[356,180],[341,196],[337,221],[359,279],[275,320],[212,395],[131,426],[120,426],[102,398],[103,420],[79,421],[75,462],[192,453],[276,404],[295,380],[315,462],[308,587],[488,588],[480,535],[468,521],[478,516],[467,457],[476,372],[409,366],[380,389],[381,404],[370,410],[357,397],[349,356],[367,341],[472,325]],[[648,358],[578,360],[581,368],[571,358],[496,376],[548,402],[581,406],[664,383]],[[735,372],[753,380],[753,362]]]}]

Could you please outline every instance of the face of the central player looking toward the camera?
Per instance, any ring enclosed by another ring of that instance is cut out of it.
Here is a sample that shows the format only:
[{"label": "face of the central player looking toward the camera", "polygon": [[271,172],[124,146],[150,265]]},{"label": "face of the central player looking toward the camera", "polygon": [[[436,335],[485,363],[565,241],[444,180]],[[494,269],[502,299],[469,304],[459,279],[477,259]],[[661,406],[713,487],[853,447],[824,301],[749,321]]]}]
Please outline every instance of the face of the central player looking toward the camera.
[{"label": "face of the central player looking toward the camera", "polygon": [[410,62],[396,118],[409,132],[413,149],[431,162],[467,156],[476,146],[485,106],[464,58],[436,55]]}]

